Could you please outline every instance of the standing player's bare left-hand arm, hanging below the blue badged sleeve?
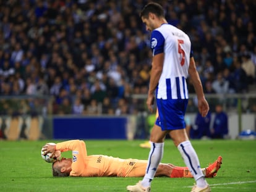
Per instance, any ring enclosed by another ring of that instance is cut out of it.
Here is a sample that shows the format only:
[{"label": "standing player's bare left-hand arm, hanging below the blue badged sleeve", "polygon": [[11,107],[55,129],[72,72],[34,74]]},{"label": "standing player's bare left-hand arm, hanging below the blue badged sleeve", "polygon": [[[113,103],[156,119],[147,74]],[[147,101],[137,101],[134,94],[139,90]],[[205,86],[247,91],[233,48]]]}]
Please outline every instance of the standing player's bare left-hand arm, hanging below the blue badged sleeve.
[{"label": "standing player's bare left-hand arm, hanging below the blue badged sleeve", "polygon": [[153,56],[152,69],[150,74],[150,85],[148,90],[147,106],[150,112],[153,112],[153,102],[155,97],[156,86],[160,80],[163,70],[164,53],[156,54]]}]

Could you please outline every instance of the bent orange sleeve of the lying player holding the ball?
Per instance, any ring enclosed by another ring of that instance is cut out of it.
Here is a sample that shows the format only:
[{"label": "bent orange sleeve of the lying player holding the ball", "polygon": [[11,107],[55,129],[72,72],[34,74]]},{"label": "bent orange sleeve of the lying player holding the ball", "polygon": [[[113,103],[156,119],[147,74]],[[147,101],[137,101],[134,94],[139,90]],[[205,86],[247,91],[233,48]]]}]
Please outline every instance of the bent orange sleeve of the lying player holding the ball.
[{"label": "bent orange sleeve of the lying player holding the ball", "polygon": [[85,170],[84,159],[87,157],[85,142],[81,140],[70,140],[56,144],[56,150],[72,151],[72,167],[70,176],[80,176]]}]

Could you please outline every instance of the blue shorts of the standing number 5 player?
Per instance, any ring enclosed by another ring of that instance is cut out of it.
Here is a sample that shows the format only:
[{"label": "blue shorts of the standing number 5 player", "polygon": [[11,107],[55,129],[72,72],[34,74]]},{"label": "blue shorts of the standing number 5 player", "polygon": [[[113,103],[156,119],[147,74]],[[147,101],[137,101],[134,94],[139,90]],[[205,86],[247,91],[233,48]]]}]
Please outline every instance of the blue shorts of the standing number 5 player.
[{"label": "blue shorts of the standing number 5 player", "polygon": [[156,99],[158,118],[156,125],[164,130],[177,130],[186,127],[184,115],[188,99]]}]

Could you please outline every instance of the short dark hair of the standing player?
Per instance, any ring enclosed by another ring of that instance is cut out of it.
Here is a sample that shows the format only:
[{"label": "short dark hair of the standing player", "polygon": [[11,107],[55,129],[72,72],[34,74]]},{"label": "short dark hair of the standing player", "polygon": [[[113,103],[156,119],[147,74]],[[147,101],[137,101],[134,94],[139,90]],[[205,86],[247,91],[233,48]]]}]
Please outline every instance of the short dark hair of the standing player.
[{"label": "short dark hair of the standing player", "polygon": [[148,18],[149,13],[156,14],[158,17],[164,17],[164,9],[163,7],[156,2],[149,2],[145,7],[143,7],[140,12],[140,18],[145,17]]}]

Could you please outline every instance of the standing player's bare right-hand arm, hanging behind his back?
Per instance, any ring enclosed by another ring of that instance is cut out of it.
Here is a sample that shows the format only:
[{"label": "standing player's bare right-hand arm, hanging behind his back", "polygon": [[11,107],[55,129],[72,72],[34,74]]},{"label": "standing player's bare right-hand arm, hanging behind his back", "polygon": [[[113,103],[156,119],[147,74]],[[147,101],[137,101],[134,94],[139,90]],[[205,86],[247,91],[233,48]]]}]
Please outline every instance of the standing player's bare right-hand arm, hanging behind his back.
[{"label": "standing player's bare right-hand arm, hanging behind his back", "polygon": [[197,94],[198,111],[203,117],[205,117],[208,114],[209,105],[205,99],[205,94],[203,93],[203,86],[195,66],[194,57],[190,57],[189,75],[195,88],[195,93]]}]

